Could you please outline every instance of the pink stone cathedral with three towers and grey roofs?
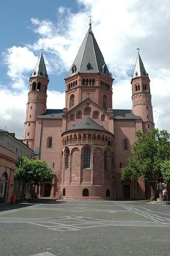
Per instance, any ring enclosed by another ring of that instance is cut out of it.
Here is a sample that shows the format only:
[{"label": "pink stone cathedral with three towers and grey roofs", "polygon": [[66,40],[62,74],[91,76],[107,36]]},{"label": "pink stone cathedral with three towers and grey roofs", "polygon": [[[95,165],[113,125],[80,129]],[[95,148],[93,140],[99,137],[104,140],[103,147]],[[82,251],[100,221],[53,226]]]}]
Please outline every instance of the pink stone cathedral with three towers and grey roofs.
[{"label": "pink stone cathedral with three towers and grey roofs", "polygon": [[132,109],[113,109],[114,78],[91,22],[65,77],[65,108],[47,109],[49,78],[43,52],[30,77],[23,142],[54,172],[40,196],[67,199],[146,199],[142,180],[121,180],[135,132],[154,127],[150,79],[139,49],[131,86]]}]

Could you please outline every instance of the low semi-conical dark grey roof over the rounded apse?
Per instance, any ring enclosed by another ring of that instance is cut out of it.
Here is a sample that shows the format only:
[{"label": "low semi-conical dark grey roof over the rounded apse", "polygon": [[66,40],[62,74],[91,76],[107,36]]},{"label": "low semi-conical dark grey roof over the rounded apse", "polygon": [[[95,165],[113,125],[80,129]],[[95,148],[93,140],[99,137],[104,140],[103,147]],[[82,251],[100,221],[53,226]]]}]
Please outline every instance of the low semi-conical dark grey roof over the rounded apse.
[{"label": "low semi-conical dark grey roof over the rounded apse", "polygon": [[74,130],[99,130],[108,132],[104,127],[100,126],[94,120],[92,120],[89,116],[81,120],[79,123],[75,124],[71,128],[67,129],[67,131],[74,131]]}]

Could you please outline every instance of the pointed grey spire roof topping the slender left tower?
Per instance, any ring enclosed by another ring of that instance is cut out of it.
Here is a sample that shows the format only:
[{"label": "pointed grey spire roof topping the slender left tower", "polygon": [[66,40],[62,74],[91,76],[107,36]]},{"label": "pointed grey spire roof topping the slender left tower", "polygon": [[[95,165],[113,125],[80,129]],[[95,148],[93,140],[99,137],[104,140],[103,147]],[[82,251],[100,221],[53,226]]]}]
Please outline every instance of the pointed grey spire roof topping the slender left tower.
[{"label": "pointed grey spire roof topping the slender left tower", "polygon": [[48,79],[48,74],[47,74],[47,70],[46,70],[46,65],[45,65],[45,61],[44,61],[44,57],[43,57],[43,49],[41,49],[41,55],[39,57],[39,60],[37,62],[37,65],[35,67],[35,69],[33,70],[31,77],[46,77]]}]

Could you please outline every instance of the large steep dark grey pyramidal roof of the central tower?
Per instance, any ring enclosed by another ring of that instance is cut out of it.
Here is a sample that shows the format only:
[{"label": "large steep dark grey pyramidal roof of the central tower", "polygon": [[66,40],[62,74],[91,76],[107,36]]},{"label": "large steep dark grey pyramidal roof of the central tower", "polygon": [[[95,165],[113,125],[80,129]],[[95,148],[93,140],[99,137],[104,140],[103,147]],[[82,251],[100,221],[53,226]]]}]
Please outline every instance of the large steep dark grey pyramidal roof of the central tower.
[{"label": "large steep dark grey pyramidal roof of the central tower", "polygon": [[[91,67],[90,70],[87,69],[88,65]],[[66,78],[78,73],[98,72],[112,77],[90,26]]]}]

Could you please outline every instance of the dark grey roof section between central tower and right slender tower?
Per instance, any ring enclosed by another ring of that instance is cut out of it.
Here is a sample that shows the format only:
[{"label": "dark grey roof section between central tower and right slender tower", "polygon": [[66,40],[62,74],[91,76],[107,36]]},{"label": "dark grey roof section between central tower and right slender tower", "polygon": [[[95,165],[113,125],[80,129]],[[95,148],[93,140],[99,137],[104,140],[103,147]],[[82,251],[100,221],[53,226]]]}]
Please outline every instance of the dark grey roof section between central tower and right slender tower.
[{"label": "dark grey roof section between central tower and right slender tower", "polygon": [[113,109],[114,119],[142,119],[140,116],[135,116],[131,109]]}]

